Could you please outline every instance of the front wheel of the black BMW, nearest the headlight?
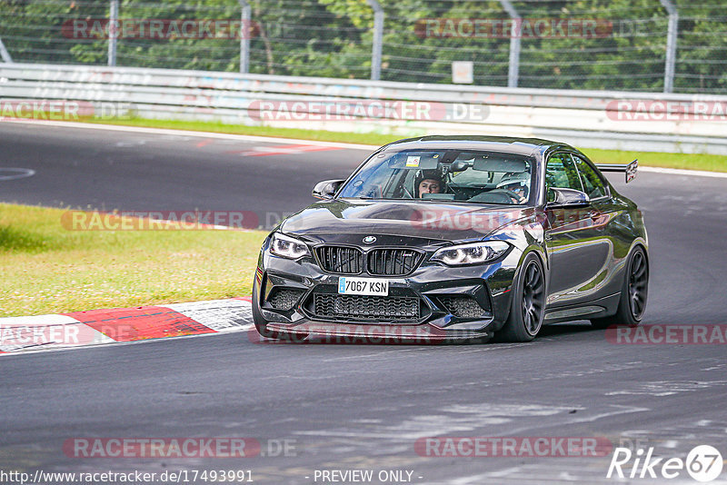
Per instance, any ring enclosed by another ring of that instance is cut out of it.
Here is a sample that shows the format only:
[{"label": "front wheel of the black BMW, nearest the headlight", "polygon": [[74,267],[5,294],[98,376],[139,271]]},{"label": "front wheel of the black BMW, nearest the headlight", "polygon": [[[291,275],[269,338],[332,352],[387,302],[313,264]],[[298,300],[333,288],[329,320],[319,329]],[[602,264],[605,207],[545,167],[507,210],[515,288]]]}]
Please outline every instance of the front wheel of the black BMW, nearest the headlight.
[{"label": "front wheel of the black BMW, nearest the headlight", "polygon": [[543,264],[531,252],[525,256],[513,284],[510,315],[503,328],[495,334],[495,341],[532,341],[543,327],[545,296]]}]

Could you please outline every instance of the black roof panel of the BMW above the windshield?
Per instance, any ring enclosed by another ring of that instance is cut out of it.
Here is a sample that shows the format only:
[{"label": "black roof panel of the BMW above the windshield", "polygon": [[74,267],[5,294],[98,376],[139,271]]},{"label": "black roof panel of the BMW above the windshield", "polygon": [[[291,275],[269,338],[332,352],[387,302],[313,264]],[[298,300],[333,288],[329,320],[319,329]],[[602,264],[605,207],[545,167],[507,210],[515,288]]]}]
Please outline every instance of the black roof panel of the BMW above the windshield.
[{"label": "black roof panel of the BMW above the windshield", "polygon": [[569,144],[562,144],[540,138],[515,138],[510,136],[484,135],[432,135],[399,140],[383,146],[382,150],[483,150],[503,153],[517,153],[526,156],[543,154],[551,149],[562,148],[576,151]]}]

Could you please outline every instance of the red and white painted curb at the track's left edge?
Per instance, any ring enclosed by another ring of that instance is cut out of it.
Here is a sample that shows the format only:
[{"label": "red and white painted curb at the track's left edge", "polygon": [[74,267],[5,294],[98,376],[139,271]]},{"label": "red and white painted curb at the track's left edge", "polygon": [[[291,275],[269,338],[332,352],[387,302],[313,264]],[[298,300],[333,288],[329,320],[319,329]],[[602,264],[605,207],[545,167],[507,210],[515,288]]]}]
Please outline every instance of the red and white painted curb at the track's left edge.
[{"label": "red and white painted curb at the track's left edge", "polygon": [[0,354],[153,341],[253,328],[250,297],[0,318]]}]

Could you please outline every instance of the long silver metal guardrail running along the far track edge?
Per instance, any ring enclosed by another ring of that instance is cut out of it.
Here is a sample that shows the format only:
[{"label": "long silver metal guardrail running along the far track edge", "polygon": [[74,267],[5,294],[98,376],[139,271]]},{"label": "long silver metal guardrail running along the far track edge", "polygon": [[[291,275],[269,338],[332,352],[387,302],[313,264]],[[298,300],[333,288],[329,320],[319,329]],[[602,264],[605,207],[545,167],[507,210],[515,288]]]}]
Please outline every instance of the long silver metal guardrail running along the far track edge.
[{"label": "long silver metal guardrail running along the far track edge", "polygon": [[586,148],[727,154],[727,96],[716,95],[6,63],[0,64],[0,100],[73,100],[99,109],[115,103],[144,118],[402,136],[528,136]]}]

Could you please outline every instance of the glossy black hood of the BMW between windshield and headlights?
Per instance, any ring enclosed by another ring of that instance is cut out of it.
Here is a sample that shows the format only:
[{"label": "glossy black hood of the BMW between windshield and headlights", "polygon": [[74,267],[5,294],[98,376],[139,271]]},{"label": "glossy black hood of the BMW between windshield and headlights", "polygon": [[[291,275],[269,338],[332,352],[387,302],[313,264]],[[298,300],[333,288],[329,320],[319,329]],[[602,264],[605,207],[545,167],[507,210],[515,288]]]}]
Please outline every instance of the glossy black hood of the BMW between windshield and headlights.
[{"label": "glossy black hood of the BMW between windshield and headlights", "polygon": [[533,207],[337,199],[308,206],[285,219],[279,229],[324,241],[345,239],[345,235],[370,234],[426,239],[435,243],[480,239],[533,213]]}]

